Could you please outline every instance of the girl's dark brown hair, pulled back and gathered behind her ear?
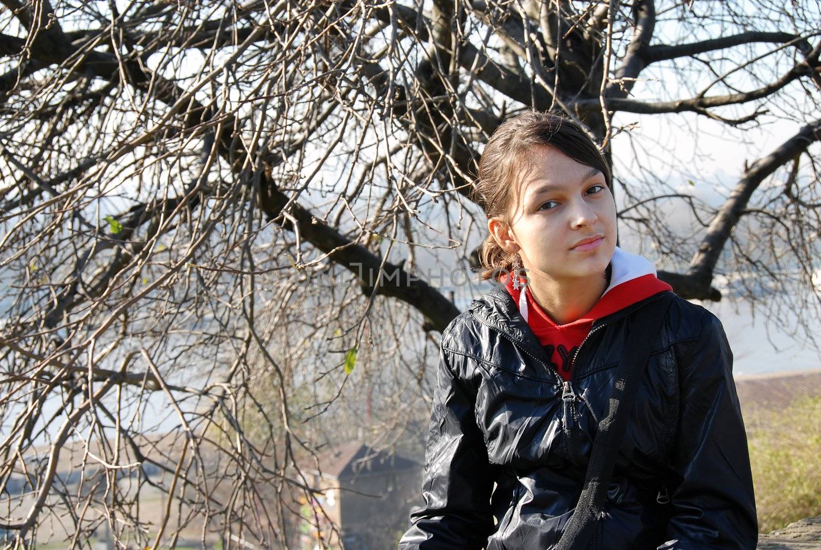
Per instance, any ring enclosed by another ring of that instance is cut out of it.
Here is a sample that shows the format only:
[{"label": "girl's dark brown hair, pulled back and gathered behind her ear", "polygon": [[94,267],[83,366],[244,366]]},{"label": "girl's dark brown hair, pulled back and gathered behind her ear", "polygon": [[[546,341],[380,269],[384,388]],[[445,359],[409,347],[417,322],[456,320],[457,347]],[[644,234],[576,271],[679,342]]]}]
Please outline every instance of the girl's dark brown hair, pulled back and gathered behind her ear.
[{"label": "girl's dark brown hair, pulled back and gathered behind her ear", "polygon": [[[612,189],[612,172],[599,146],[571,118],[557,112],[528,111],[499,124],[479,159],[479,177],[472,192],[488,220],[501,217],[510,223],[516,178],[525,156],[536,146],[551,146],[571,159],[597,168]],[[505,251],[489,234],[479,249],[481,280],[496,279],[509,272],[515,255]]]}]

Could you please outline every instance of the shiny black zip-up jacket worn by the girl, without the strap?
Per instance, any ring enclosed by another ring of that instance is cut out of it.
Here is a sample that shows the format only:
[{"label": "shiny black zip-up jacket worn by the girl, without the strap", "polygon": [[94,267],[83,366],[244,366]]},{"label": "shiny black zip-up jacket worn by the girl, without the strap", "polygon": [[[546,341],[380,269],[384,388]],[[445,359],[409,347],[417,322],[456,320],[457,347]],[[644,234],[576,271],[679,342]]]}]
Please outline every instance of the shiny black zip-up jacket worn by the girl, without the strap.
[{"label": "shiny black zip-up jacket worn by the girl, without the strap", "polygon": [[[399,550],[555,548],[581,492],[626,324],[659,296],[595,321],[570,382],[501,285],[451,321],[424,504],[411,509]],[[750,458],[721,321],[676,297],[652,349],[591,548],[754,550]]]}]

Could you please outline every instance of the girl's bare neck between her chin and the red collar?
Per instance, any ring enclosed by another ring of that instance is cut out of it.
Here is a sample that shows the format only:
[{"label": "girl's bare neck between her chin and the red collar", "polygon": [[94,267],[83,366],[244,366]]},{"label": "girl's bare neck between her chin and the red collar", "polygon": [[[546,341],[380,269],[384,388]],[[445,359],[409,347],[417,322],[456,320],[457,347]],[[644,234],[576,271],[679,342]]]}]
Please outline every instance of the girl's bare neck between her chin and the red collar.
[{"label": "girl's bare neck between her chin and the red collar", "polygon": [[580,319],[593,309],[608,288],[606,272],[557,280],[539,270],[527,270],[527,278],[534,300],[557,325]]}]

